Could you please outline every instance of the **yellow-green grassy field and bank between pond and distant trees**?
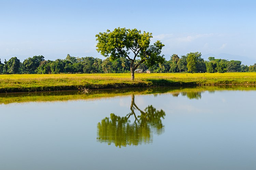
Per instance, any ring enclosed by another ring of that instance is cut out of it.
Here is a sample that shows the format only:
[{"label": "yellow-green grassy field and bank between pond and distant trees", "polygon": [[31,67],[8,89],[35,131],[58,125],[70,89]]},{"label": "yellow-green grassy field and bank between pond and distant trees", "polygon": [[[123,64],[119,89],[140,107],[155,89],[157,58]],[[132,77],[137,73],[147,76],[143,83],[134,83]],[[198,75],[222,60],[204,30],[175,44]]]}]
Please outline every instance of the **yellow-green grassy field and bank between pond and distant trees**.
[{"label": "yellow-green grassy field and bank between pond and distant trees", "polygon": [[0,93],[153,86],[255,85],[256,73],[13,74],[0,75]]}]

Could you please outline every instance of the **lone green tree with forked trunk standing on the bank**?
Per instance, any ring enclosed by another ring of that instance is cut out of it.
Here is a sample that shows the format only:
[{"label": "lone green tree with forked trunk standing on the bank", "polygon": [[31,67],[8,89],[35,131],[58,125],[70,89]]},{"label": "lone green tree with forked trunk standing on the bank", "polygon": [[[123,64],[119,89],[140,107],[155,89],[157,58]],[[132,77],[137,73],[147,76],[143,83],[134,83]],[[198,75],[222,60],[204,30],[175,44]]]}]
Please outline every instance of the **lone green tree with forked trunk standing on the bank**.
[{"label": "lone green tree with forked trunk standing on the bank", "polygon": [[[115,28],[114,31],[96,35],[97,51],[110,60],[117,58],[126,58],[130,62],[131,80],[134,80],[134,70],[143,62],[147,66],[164,62],[164,55],[160,55],[163,45],[157,40],[154,45],[150,45],[152,33],[143,32],[137,29]],[[138,63],[135,64],[136,57],[140,57]]]}]

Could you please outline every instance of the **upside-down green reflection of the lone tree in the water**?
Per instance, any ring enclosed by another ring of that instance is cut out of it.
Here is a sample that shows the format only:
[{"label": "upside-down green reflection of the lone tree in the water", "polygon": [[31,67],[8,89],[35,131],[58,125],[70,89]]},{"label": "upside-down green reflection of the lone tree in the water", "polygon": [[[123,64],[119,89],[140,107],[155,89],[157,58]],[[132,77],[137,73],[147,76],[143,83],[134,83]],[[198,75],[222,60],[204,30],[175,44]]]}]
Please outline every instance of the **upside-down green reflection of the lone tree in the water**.
[{"label": "upside-down green reflection of the lone tree in the water", "polygon": [[[165,112],[162,109],[158,111],[150,105],[142,111],[134,103],[134,95],[132,95],[130,109],[131,113],[125,117],[111,113],[110,118],[102,119],[97,125],[97,140],[109,145],[115,143],[115,146],[120,148],[121,146],[126,147],[126,145],[139,145],[142,142],[150,143],[153,131],[157,134],[163,132],[164,126],[161,118],[165,118]],[[138,110],[140,115],[136,116],[135,110]],[[133,122],[129,120],[132,115],[135,118]]]}]

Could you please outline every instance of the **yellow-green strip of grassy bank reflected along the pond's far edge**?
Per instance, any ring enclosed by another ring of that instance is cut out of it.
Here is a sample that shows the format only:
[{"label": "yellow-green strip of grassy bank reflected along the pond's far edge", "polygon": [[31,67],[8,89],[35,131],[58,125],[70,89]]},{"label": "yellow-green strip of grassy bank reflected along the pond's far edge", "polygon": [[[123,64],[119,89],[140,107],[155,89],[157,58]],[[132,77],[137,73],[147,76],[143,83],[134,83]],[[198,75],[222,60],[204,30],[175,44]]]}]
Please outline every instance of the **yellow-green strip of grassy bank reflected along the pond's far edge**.
[{"label": "yellow-green strip of grassy bank reflected along the pond's far edge", "polygon": [[135,95],[170,93],[172,96],[182,94],[190,99],[200,99],[204,91],[214,92],[215,90],[255,90],[255,86],[206,86],[206,87],[161,87],[161,88],[131,88],[131,89],[111,89],[111,90],[91,90],[88,94],[81,91],[58,91],[58,92],[32,92],[16,94],[0,94],[0,104],[14,102],[47,102],[47,101],[67,101],[67,100],[97,100],[101,98],[112,98],[116,96],[127,96],[131,93]]}]

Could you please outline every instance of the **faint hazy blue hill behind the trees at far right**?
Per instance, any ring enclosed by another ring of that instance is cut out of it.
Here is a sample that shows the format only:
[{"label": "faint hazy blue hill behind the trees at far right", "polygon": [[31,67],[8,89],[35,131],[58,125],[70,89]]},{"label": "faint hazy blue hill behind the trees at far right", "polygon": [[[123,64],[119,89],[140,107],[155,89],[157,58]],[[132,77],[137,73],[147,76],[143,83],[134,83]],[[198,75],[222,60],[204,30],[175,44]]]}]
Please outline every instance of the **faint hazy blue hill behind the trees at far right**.
[{"label": "faint hazy blue hill behind the trees at far right", "polygon": [[225,53],[221,53],[221,54],[203,54],[202,58],[204,60],[208,60],[208,57],[215,57],[216,59],[226,59],[228,61],[230,60],[239,60],[242,62],[242,64],[250,66],[253,65],[254,63],[256,63],[256,59],[253,58],[249,58],[246,56],[240,56],[240,55],[232,55],[232,54],[225,54]]}]

